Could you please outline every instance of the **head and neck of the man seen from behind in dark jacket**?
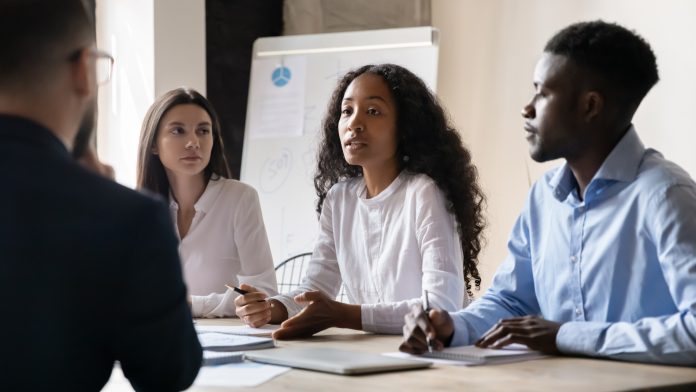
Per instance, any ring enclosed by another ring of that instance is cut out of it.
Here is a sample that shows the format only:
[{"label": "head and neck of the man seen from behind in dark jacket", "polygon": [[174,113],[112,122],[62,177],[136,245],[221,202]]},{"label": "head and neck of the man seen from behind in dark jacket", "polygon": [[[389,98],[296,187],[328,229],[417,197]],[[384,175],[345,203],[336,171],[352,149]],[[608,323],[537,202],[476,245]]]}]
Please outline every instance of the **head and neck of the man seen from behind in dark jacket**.
[{"label": "head and neck of the man seen from behind in dark jacket", "polygon": [[72,146],[95,106],[92,15],[83,0],[0,1],[0,114],[30,119]]}]

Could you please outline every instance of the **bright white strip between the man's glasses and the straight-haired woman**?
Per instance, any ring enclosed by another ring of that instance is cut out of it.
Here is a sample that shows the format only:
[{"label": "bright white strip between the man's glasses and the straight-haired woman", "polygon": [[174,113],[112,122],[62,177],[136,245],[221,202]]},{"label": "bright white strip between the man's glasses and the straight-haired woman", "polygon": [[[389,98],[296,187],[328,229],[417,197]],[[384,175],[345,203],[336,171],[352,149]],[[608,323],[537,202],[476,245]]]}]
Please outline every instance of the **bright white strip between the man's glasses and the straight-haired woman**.
[{"label": "bright white strip between the man's glasses and the straight-haired woman", "polygon": [[99,88],[97,150],[116,180],[135,185],[138,136],[154,100],[154,1],[97,1],[97,46],[116,59],[111,82]]}]

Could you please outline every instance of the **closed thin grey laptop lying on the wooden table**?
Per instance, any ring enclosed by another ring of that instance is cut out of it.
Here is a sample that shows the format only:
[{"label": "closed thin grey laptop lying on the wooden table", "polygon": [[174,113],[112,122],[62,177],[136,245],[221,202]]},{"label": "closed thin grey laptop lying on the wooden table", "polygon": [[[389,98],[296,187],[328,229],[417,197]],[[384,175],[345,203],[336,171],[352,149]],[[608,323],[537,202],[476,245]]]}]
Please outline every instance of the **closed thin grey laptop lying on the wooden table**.
[{"label": "closed thin grey laptop lying on the wooden table", "polygon": [[421,369],[432,365],[431,362],[334,348],[276,348],[250,352],[244,358],[254,362],[345,375]]}]

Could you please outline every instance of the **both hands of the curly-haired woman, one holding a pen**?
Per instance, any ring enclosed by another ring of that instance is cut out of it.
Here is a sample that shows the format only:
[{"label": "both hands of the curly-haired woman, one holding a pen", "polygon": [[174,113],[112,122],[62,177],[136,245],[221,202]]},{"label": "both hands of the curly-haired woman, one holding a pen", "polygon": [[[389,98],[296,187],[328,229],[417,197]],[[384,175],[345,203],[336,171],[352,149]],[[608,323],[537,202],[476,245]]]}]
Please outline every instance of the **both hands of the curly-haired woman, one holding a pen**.
[{"label": "both hands of the curly-haired woman, one holding a pen", "polygon": [[[360,307],[348,305],[327,297],[320,291],[307,291],[293,299],[304,309],[288,318],[288,311],[282,302],[268,299],[268,296],[256,288],[242,284],[242,290],[249,293],[238,296],[234,303],[239,318],[249,326],[280,324],[273,332],[274,339],[292,339],[307,337],[330,327],[360,328]],[[357,320],[356,320],[357,317]]]}]

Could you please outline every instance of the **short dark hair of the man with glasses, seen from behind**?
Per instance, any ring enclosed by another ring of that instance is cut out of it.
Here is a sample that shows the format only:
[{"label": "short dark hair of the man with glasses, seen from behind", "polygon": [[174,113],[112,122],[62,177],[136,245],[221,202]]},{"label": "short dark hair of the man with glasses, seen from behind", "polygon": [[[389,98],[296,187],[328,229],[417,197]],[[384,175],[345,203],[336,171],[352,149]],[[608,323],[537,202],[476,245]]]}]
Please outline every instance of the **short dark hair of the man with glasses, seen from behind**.
[{"label": "short dark hair of the man with glasses, seen from behind", "polygon": [[26,85],[94,40],[84,0],[1,0],[0,87]]}]

